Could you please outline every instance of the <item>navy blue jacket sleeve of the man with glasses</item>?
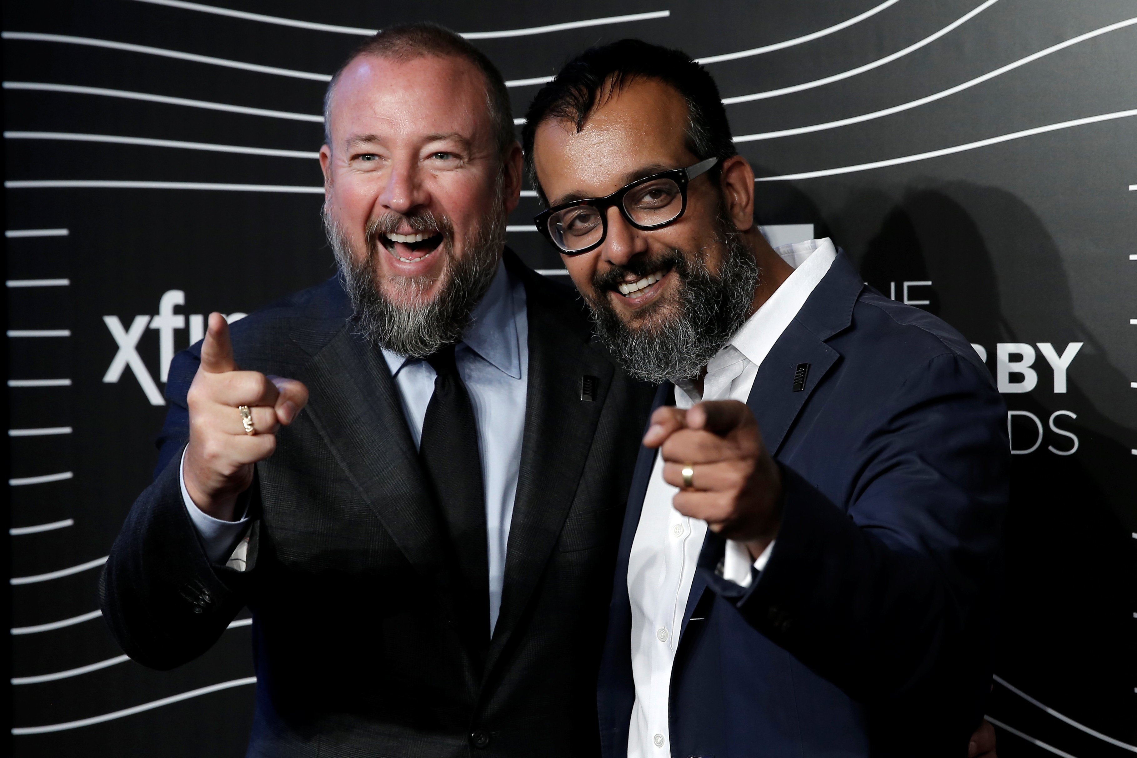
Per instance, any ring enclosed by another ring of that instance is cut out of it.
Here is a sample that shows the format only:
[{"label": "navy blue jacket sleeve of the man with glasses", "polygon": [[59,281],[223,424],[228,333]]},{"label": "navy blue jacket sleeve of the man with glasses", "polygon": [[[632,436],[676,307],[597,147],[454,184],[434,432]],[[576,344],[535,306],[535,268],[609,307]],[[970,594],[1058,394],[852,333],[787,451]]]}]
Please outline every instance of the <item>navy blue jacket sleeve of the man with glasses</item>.
[{"label": "navy blue jacket sleeve of the man with glasses", "polygon": [[862,701],[987,665],[1010,458],[1002,398],[955,355],[920,366],[877,419],[833,460],[853,466],[846,507],[782,467],[777,545],[736,601]]}]

